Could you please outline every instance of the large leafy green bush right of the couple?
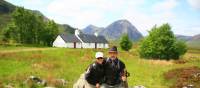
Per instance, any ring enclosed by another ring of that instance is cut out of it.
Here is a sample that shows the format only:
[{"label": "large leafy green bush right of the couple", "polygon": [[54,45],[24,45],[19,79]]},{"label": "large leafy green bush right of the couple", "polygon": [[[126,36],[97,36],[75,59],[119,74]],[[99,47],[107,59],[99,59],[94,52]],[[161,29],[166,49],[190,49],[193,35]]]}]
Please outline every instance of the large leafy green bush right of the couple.
[{"label": "large leafy green bush right of the couple", "polygon": [[186,51],[185,42],[176,39],[169,24],[154,26],[139,46],[140,57],[151,59],[179,59]]}]

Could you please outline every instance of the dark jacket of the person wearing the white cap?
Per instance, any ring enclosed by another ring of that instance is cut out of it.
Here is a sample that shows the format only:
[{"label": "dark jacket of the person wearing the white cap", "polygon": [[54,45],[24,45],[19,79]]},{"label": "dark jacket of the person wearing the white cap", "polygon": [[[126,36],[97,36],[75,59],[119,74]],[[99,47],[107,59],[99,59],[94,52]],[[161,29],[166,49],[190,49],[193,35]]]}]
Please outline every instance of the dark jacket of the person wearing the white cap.
[{"label": "dark jacket of the person wearing the white cap", "polygon": [[96,85],[97,83],[102,83],[104,79],[104,68],[102,64],[94,62],[89,66],[85,74],[85,79],[88,83]]}]

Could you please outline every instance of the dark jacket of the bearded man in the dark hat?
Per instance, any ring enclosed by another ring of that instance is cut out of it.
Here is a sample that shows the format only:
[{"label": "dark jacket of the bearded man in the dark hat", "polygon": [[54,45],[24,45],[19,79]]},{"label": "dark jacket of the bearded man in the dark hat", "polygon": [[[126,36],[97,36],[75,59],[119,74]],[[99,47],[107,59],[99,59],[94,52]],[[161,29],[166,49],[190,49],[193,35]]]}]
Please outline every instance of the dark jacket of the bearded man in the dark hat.
[{"label": "dark jacket of the bearded man in the dark hat", "polygon": [[120,84],[124,69],[125,64],[121,60],[115,59],[112,61],[110,58],[106,59],[104,63],[105,83],[108,85]]}]

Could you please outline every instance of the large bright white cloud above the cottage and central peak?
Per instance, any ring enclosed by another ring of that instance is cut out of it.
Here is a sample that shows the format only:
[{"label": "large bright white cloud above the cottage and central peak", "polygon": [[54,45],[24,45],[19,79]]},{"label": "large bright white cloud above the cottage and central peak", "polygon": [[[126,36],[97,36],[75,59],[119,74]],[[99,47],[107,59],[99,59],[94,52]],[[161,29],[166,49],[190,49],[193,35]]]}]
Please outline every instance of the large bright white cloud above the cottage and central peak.
[{"label": "large bright white cloud above the cottage and central peak", "polygon": [[59,23],[84,28],[89,24],[102,24],[107,21],[109,13],[119,15],[114,13],[121,13],[127,7],[141,3],[143,0],[54,0],[47,11],[53,14],[50,18],[57,19]]}]

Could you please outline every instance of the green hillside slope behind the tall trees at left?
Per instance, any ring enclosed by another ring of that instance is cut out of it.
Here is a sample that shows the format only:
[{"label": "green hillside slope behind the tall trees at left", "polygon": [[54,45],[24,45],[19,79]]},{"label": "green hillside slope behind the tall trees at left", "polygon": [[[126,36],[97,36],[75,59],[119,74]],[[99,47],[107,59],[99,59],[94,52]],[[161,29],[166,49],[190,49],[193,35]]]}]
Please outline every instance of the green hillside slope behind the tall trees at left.
[{"label": "green hillside slope behind the tall trees at left", "polygon": [[[2,32],[1,29],[3,29],[10,21],[11,21],[11,14],[15,10],[15,8],[18,6],[15,6],[5,0],[0,0],[0,34]],[[29,10],[29,9],[26,9]],[[44,16],[40,11],[38,10],[30,10],[34,14],[42,16],[42,18],[45,21],[49,21],[46,16]],[[68,24],[58,24],[60,32],[64,33],[74,33],[75,28],[71,27]]]}]

